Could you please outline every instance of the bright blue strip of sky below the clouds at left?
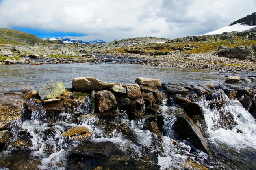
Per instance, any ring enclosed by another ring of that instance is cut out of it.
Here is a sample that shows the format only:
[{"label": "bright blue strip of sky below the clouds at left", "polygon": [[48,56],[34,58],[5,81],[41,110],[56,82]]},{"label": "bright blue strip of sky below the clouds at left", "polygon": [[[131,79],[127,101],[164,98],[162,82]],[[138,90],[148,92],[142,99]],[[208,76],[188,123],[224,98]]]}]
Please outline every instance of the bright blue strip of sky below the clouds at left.
[{"label": "bright blue strip of sky below the clouds at left", "polygon": [[87,34],[76,33],[76,32],[48,31],[48,30],[40,30],[37,28],[28,28],[28,27],[12,27],[11,29],[34,34],[39,38],[57,38],[57,37],[65,37],[65,36],[80,37],[80,36],[87,35]]}]

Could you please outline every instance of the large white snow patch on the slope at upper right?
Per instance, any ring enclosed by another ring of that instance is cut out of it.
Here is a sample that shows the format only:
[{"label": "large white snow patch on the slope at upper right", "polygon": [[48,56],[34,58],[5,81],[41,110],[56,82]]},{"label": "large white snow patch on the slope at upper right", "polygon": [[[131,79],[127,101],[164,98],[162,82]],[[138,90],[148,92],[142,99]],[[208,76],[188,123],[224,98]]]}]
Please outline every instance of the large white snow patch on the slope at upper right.
[{"label": "large white snow patch on the slope at upper right", "polygon": [[203,34],[203,35],[215,35],[215,34],[222,34],[223,32],[232,32],[232,31],[245,31],[245,30],[249,30],[249,29],[254,28],[254,27],[256,27],[256,26],[248,26],[248,25],[243,24],[243,23],[237,23],[237,24],[234,24],[232,26],[230,25],[230,26],[219,28],[217,30],[208,32],[208,33]]}]

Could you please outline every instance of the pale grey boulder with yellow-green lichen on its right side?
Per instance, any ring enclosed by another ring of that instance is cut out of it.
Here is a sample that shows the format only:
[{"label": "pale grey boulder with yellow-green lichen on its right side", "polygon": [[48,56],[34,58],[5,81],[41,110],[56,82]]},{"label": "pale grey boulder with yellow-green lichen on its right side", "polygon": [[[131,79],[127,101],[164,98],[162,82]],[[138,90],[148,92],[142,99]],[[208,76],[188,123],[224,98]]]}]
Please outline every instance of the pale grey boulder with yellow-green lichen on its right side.
[{"label": "pale grey boulder with yellow-green lichen on its right side", "polygon": [[38,91],[42,100],[53,99],[59,97],[65,92],[65,86],[62,81],[49,81],[43,85]]}]

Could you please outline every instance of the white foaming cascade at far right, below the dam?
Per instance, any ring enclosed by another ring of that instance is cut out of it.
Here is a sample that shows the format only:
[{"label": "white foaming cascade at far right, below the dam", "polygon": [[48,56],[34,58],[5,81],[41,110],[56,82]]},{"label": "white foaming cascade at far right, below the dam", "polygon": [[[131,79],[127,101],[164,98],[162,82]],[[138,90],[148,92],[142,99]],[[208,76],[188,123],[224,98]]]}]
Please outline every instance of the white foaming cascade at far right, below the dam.
[{"label": "white foaming cascade at far right, below the dam", "polygon": [[226,104],[223,110],[225,113],[231,114],[236,123],[232,130],[224,128],[212,130],[212,127],[221,119],[218,110],[210,109],[206,100],[197,102],[203,108],[210,141],[216,145],[217,143],[226,144],[229,147],[236,148],[237,151],[248,147],[256,149],[255,119],[243,108],[239,101],[230,100],[227,96],[224,96],[224,99],[226,100]]}]

